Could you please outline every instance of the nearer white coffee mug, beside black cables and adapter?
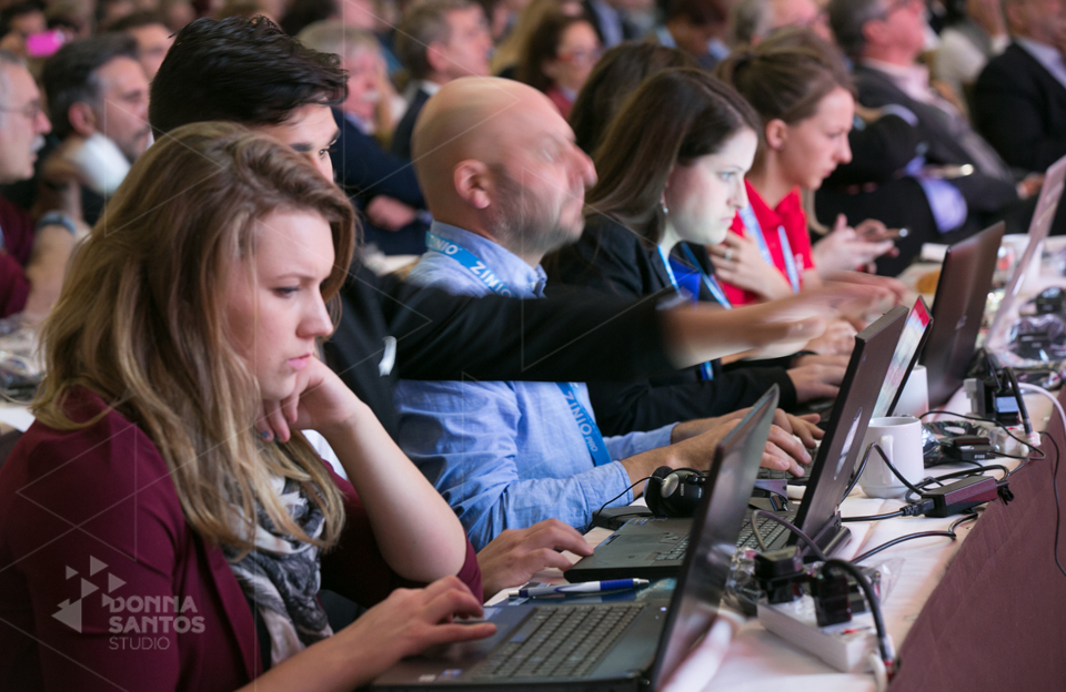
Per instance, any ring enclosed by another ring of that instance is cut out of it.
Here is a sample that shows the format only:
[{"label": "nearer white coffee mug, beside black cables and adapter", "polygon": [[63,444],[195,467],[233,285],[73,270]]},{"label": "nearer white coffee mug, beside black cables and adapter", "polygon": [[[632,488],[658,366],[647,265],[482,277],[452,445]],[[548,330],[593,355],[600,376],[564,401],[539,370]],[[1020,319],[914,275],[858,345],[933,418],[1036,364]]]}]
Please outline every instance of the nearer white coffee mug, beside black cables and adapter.
[{"label": "nearer white coffee mug, beside black cables and adapter", "polygon": [[[912,485],[925,477],[921,420],[911,416],[873,418],[866,428],[863,454],[874,442],[881,445],[892,465]],[[888,469],[877,450],[871,451],[858,485],[868,497],[902,498],[907,493],[907,487]]]}]

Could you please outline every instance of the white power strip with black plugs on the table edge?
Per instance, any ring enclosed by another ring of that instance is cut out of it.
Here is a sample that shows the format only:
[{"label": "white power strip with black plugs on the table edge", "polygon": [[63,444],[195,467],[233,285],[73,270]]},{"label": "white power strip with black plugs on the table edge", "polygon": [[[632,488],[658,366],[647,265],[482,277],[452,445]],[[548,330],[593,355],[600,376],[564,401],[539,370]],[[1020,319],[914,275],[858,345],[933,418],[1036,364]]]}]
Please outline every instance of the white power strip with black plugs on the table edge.
[{"label": "white power strip with black plugs on the table edge", "polygon": [[785,641],[816,655],[845,673],[871,670],[871,653],[877,650],[877,631],[868,612],[849,622],[819,628],[814,599],[804,594],[791,603],[758,603],[758,622]]}]

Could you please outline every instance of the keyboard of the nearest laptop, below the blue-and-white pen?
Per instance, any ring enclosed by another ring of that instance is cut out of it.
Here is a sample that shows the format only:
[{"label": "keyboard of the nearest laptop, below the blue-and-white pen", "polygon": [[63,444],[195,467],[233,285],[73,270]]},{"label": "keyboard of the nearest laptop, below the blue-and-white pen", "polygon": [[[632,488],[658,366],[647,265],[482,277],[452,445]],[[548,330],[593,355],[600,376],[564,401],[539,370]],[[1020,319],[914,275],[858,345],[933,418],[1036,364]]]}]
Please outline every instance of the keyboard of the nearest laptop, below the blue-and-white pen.
[{"label": "keyboard of the nearest laptop, below the blue-and-white pen", "polygon": [[643,604],[544,606],[493,649],[475,679],[581,678],[607,654]]}]

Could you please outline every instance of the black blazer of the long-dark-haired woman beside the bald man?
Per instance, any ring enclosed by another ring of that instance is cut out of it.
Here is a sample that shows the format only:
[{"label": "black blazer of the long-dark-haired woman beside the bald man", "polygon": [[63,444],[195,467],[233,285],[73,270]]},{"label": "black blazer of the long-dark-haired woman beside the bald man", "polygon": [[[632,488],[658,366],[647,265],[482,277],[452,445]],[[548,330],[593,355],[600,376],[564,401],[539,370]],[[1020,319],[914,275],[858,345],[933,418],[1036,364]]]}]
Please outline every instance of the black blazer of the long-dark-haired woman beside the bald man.
[{"label": "black blazer of the long-dark-haired woman beside the bald man", "polygon": [[[704,271],[713,272],[706,251],[691,245]],[[603,215],[590,217],[581,240],[545,262],[553,282],[577,284],[615,295],[646,298],[671,288],[658,252],[633,232]],[[701,301],[713,301],[701,286]],[[604,355],[607,355],[605,352]],[[606,435],[652,430],[678,420],[721,416],[751,406],[773,384],[781,387],[783,408],[796,403],[796,389],[784,368],[714,364],[714,379],[700,378],[700,368],[674,370],[628,381],[590,381],[589,394],[596,421]]]}]

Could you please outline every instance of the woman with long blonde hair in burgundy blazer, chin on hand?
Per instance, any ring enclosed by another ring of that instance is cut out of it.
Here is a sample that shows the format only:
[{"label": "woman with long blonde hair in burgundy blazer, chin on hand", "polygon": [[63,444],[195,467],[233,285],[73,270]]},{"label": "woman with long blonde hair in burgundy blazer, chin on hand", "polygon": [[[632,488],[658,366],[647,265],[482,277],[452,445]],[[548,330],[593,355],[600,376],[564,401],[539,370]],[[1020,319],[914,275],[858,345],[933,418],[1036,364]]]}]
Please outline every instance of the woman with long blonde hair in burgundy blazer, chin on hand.
[{"label": "woman with long blonde hair in burgundy blazer, chin on hand", "polygon": [[[344,195],[271,138],[199,123],[108,212],[0,470],[0,689],[346,690],[491,634],[451,623],[481,612],[455,515],[316,357]],[[333,632],[320,587],[370,610]]]}]

